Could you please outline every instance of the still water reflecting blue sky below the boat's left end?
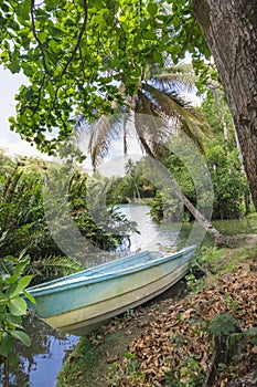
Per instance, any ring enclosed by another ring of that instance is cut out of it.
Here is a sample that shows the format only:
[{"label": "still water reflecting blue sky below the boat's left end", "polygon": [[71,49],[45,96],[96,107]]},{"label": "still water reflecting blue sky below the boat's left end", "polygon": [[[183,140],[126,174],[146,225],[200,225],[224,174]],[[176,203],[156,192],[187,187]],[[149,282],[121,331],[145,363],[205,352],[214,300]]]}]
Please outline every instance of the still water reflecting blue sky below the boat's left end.
[{"label": "still water reflecting blue sky below the boat's left end", "polygon": [[[19,363],[9,374],[10,387],[54,387],[65,355],[79,337],[65,335],[51,328],[33,315],[25,317],[23,325],[31,337],[31,346],[17,343],[14,348]],[[3,370],[0,372],[3,386]]]}]

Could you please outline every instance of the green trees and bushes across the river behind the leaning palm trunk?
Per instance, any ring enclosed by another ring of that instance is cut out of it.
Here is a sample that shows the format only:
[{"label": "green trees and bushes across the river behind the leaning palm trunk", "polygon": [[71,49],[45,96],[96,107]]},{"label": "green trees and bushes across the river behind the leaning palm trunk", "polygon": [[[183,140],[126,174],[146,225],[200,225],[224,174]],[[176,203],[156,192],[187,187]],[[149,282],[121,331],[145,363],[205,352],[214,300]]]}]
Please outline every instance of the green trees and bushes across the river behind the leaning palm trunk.
[{"label": "green trees and bushes across the river behind the leaning palm trunk", "polygon": [[[221,93],[221,92],[219,92]],[[221,103],[223,109],[221,111]],[[247,179],[244,172],[239,149],[232,118],[227,105],[221,95],[219,100],[212,97],[201,105],[202,114],[210,125],[210,136],[203,137],[205,151],[205,161],[212,180],[213,199],[206,200],[206,190],[196,198],[195,181],[188,168],[192,160],[190,150],[184,159],[179,155],[186,147],[181,140],[180,134],[173,134],[170,139],[172,148],[169,150],[169,143],[162,148],[159,160],[171,172],[181,191],[196,206],[199,200],[201,212],[205,213],[207,202],[213,202],[212,219],[238,219],[249,212],[249,195]],[[226,128],[224,133],[224,127]],[[151,175],[147,168],[144,159],[132,163],[128,159],[125,165],[125,177],[114,179],[109,189],[109,200],[113,203],[135,201],[135,199],[151,198],[152,218],[161,221],[179,221],[181,213],[184,212],[184,220],[192,220],[193,216],[186,208],[183,208],[181,201],[172,195],[172,190],[164,186],[163,189],[157,189],[151,182]],[[194,179],[196,178],[196,174]],[[200,176],[200,179],[202,176]],[[200,184],[201,186],[201,184]]]}]

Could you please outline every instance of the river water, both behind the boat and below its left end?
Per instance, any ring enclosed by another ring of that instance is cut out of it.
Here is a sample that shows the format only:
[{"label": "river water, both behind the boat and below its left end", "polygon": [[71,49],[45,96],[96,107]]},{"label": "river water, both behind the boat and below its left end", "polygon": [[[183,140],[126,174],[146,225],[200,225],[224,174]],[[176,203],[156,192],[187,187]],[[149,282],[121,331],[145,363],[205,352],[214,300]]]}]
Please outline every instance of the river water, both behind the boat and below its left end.
[{"label": "river water, both behind the boat and below its left end", "polygon": [[[192,224],[157,224],[151,221],[148,206],[122,205],[119,206],[119,210],[127,215],[130,220],[136,221],[138,230],[140,230],[140,233],[130,236],[130,251],[132,252],[140,250],[162,250],[170,252],[189,244],[189,238],[192,236]],[[256,220],[250,219],[219,221],[215,222],[215,226],[218,230],[228,234],[257,233]],[[205,245],[212,244],[212,239],[208,236],[204,236],[201,227],[199,227],[199,234],[201,234],[201,238],[197,237],[196,228],[194,232],[196,242],[201,239]],[[191,241],[193,241],[192,238]],[[120,250],[125,250],[126,248],[120,247]],[[15,353],[19,355],[19,364],[10,372],[9,386],[56,386],[56,377],[65,356],[74,347],[79,337],[60,333],[33,315],[26,316],[24,326],[32,339],[32,345],[29,348],[17,345]],[[3,386],[2,370],[0,370],[0,386]]]}]

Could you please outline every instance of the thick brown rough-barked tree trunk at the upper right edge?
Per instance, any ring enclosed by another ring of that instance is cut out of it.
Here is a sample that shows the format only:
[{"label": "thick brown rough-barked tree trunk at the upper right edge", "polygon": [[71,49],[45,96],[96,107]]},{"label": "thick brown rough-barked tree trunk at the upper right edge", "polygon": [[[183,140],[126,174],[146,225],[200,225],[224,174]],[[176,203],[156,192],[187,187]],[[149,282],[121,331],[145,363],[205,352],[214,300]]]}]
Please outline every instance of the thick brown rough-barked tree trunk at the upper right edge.
[{"label": "thick brown rough-barked tree trunk at the upper right edge", "polygon": [[256,0],[192,0],[217,66],[257,210]]}]

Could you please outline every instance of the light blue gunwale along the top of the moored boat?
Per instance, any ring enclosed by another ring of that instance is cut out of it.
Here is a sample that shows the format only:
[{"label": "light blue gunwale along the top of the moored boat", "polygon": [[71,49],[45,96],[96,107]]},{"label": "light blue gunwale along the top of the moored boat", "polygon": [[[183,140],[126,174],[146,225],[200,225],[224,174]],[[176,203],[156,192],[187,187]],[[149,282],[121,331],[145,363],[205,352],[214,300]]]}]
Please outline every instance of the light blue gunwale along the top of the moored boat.
[{"label": "light blue gunwale along the top of the moored boat", "polygon": [[[196,245],[191,245],[191,247],[184,248],[175,253],[172,253],[170,255],[161,255],[161,257],[158,257],[158,258],[152,259],[150,261],[148,260],[148,261],[143,261],[143,262],[140,262],[137,264],[128,265],[124,269],[117,268],[116,270],[113,270],[113,271],[110,270],[109,272],[107,271],[104,273],[97,273],[96,275],[90,275],[90,276],[86,276],[86,272],[89,273],[89,271],[92,269],[86,269],[86,270],[83,270],[83,271],[77,272],[75,274],[64,276],[62,279],[53,280],[50,282],[42,283],[40,285],[29,287],[29,289],[26,289],[26,292],[30,293],[32,296],[41,296],[41,295],[43,296],[43,295],[52,294],[52,293],[56,293],[56,292],[64,292],[64,291],[79,287],[79,286],[84,286],[87,284],[89,285],[93,283],[98,283],[98,282],[104,282],[104,281],[111,280],[111,279],[117,279],[117,278],[122,276],[122,275],[131,274],[131,273],[135,273],[138,271],[142,271],[144,269],[153,268],[156,265],[162,264],[162,263],[168,262],[168,261],[176,260],[176,259],[183,257],[184,254],[190,253],[191,251],[192,252],[195,251],[195,249],[196,249]],[[139,254],[142,254],[142,253],[146,253],[149,255],[148,251],[141,252]],[[128,261],[129,261],[129,259],[135,259],[136,255],[137,254],[132,254],[132,255],[126,257],[125,259],[128,259]],[[190,259],[192,257],[190,257]],[[121,260],[124,260],[124,258],[121,258],[119,260],[121,261]],[[119,260],[116,260],[116,262],[118,262]],[[97,265],[95,268],[97,268],[99,270],[101,268],[108,268],[108,263],[113,263],[113,262],[115,262],[115,261],[110,261],[110,262]],[[83,274],[83,273],[85,273],[85,275],[83,278],[81,278],[79,274]]]}]

